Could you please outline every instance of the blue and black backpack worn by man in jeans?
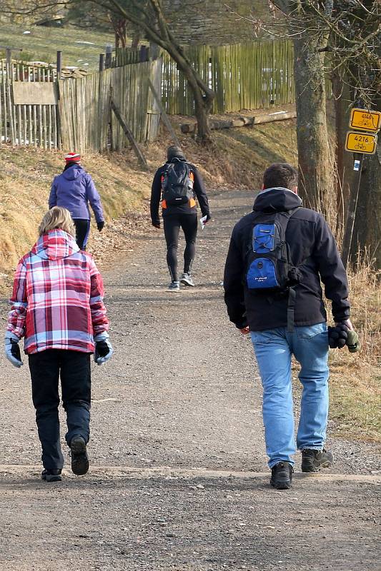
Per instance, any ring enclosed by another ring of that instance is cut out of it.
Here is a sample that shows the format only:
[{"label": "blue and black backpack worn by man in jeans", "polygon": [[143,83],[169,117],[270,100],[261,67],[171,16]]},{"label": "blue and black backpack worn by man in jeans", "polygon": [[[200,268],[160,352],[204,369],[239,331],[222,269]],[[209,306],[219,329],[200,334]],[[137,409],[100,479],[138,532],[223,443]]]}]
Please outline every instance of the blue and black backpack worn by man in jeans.
[{"label": "blue and black backpack worn by man in jeans", "polygon": [[254,218],[247,245],[246,286],[254,295],[259,292],[288,292],[287,330],[294,328],[295,289],[300,271],[292,263],[286,230],[297,208],[288,212],[259,212]]}]

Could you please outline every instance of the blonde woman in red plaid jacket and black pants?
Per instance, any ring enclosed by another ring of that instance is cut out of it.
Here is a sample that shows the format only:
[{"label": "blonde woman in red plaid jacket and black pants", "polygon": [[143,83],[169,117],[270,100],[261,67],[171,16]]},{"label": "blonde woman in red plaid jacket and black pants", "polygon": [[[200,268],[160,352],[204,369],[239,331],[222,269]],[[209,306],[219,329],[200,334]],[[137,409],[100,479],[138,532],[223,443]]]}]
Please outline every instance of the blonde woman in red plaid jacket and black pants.
[{"label": "blonde woman in red plaid jacket and black pants", "polygon": [[64,458],[59,443],[59,377],[66,411],[66,443],[71,469],[89,469],[90,355],[102,365],[112,355],[103,303],[102,276],[94,260],[80,251],[66,208],[44,216],[39,240],[19,261],[6,327],[6,357],[21,367],[19,340],[29,357],[32,398],[42,448],[43,480],[61,480]]}]

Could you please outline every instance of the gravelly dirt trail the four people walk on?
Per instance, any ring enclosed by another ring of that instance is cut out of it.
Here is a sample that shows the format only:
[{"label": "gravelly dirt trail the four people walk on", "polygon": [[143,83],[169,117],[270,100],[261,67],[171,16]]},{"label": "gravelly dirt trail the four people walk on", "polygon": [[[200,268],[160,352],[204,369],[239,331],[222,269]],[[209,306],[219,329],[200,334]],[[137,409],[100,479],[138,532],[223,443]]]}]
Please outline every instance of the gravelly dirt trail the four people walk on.
[{"label": "gravelly dirt trail the four people walk on", "polygon": [[331,473],[269,488],[259,376],[219,285],[251,203],[213,196],[194,290],[167,292],[162,233],[148,225],[106,273],[116,353],[93,369],[86,477],[36,479],[27,366],[0,355],[1,571],[380,570],[374,446],[331,439]]}]

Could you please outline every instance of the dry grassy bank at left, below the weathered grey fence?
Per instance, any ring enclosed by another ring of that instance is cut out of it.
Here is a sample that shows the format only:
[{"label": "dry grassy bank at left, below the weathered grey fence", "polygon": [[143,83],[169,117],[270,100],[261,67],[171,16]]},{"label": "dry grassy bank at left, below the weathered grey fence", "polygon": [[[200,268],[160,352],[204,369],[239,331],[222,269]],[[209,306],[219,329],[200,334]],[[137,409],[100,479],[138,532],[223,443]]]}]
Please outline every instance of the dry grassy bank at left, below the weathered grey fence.
[{"label": "dry grassy bank at left, below the weathered grey fence", "polygon": [[[36,241],[47,209],[51,181],[64,165],[63,153],[35,148],[0,146],[0,288],[20,256]],[[150,176],[127,166],[120,156],[111,160],[88,155],[84,168],[102,195],[107,220],[140,208],[149,196]]]}]

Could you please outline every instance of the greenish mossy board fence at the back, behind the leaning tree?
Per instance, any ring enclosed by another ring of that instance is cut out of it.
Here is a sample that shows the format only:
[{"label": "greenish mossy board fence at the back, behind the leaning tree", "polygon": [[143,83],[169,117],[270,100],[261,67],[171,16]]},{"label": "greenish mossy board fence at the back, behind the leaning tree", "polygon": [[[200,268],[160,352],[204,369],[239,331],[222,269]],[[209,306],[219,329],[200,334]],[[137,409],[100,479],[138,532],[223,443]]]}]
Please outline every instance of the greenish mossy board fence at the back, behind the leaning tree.
[{"label": "greenish mossy board fence at the back, behind the leaning tree", "polygon": [[[290,40],[251,41],[230,46],[187,46],[194,68],[215,91],[213,113],[295,102]],[[147,51],[147,58],[149,52]],[[114,66],[142,59],[142,52],[117,49]],[[176,62],[162,53],[162,96],[167,113],[194,115],[194,99]]]}]

